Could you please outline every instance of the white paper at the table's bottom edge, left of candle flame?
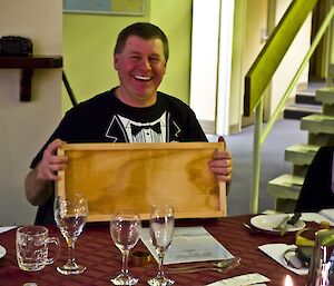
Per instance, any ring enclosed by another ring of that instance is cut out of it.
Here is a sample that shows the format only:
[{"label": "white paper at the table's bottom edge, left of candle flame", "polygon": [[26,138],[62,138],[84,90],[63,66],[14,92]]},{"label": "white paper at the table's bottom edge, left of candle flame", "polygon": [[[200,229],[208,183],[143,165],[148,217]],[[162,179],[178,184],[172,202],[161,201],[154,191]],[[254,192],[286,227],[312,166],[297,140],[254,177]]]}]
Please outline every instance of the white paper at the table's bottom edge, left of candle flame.
[{"label": "white paper at the table's bottom edge, left of candle flame", "polygon": [[245,275],[223,279],[219,282],[215,282],[208,284],[207,286],[250,286],[250,285],[265,286],[266,284],[264,283],[266,282],[271,282],[271,279],[262,274],[252,273],[252,274],[245,274]]}]

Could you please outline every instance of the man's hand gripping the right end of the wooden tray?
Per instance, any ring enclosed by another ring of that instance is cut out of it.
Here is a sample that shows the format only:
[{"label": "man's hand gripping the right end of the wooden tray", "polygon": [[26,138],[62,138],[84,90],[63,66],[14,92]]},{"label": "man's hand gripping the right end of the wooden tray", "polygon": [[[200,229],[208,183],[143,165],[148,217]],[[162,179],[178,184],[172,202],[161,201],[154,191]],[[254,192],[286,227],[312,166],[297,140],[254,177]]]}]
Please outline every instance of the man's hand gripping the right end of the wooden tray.
[{"label": "man's hand gripping the right end of the wooden tray", "polygon": [[[222,136],[218,139],[219,142],[224,142],[225,140]],[[225,151],[216,151],[214,154],[213,160],[209,162],[210,170],[216,175],[217,180],[223,180],[226,183],[230,183],[232,179],[232,156],[228,150]]]}]

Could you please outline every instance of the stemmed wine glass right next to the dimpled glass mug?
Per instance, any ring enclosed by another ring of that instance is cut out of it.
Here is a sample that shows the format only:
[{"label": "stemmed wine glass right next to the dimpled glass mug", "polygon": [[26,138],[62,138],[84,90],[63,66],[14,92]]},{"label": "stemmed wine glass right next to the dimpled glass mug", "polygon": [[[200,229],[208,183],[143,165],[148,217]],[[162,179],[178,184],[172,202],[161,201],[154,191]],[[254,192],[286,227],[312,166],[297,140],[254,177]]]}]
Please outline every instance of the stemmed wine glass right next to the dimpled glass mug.
[{"label": "stemmed wine glass right next to the dimpled glass mug", "polygon": [[69,249],[68,262],[58,266],[63,275],[81,274],[86,267],[78,265],[75,258],[75,244],[82,231],[88,215],[88,205],[84,195],[70,194],[67,197],[56,197],[55,219],[66,239]]}]

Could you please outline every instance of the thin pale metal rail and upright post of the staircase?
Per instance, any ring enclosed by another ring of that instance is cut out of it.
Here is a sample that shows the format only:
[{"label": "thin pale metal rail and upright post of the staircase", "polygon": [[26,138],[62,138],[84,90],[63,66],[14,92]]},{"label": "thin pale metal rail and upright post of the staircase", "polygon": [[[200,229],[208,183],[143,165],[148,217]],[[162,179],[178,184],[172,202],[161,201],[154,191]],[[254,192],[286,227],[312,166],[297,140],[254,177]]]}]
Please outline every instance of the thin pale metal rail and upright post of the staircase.
[{"label": "thin pale metal rail and upright post of the staircase", "polygon": [[288,96],[293,91],[294,87],[297,83],[298,78],[301,77],[304,68],[307,66],[310,58],[312,57],[316,46],[321,41],[321,38],[325,33],[326,29],[328,28],[331,20],[334,17],[334,7],[332,7],[324,19],[320,30],[317,31],[304,60],[302,61],[298,70],[296,71],[295,76],[293,77],[291,83],[288,85],[283,98],[281,99],[278,106],[276,107],[274,115],[269,119],[268,124],[265,127],[265,130],[262,131],[262,115],[263,115],[263,97],[259,98],[257,107],[256,107],[256,122],[255,122],[255,130],[254,130],[254,152],[253,152],[253,180],[252,180],[252,189],[250,189],[250,200],[249,200],[249,210],[253,214],[258,211],[258,186],[259,186],[259,165],[261,165],[261,147],[266,139],[269,130],[272,129],[273,125],[277,120],[278,115],[281,114]]}]

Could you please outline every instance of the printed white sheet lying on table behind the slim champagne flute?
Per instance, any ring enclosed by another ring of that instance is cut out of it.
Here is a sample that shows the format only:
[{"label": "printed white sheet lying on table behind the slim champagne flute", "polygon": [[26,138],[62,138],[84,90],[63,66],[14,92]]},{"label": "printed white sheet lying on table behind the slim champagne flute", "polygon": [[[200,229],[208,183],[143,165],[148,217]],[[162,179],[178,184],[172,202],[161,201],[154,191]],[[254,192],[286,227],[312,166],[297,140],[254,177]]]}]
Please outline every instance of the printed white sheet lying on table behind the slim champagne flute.
[{"label": "printed white sheet lying on table behind the slim champagne flute", "polygon": [[[140,239],[158,262],[158,254],[150,240],[149,228],[141,229]],[[220,260],[233,257],[204,227],[175,227],[164,264]]]}]

